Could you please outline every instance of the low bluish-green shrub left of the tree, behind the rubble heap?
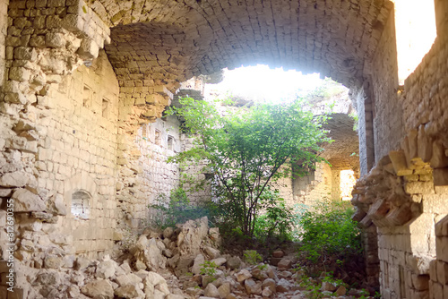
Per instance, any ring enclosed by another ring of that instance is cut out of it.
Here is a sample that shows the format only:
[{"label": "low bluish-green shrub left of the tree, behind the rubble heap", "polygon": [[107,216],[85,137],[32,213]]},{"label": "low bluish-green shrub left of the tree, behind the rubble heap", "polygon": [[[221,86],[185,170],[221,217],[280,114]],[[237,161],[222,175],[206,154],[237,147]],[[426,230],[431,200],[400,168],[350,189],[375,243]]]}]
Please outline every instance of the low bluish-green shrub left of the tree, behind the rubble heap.
[{"label": "low bluish-green shrub left of the tree, behind the rubble heap", "polygon": [[177,223],[204,216],[212,220],[216,209],[213,202],[193,204],[182,188],[173,189],[169,198],[163,193],[159,194],[155,203],[148,208],[155,211],[150,225],[156,227],[176,226]]}]

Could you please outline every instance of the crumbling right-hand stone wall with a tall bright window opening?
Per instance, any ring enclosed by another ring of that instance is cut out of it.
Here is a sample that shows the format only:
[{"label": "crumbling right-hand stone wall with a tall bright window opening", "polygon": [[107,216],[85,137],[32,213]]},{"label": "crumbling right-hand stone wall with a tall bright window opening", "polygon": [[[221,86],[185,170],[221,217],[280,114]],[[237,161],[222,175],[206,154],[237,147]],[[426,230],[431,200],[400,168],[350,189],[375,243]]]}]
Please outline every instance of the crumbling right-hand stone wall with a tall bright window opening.
[{"label": "crumbling right-hand stone wall with a tall bright window opening", "polygon": [[437,38],[398,89],[393,14],[374,60],[375,168],[360,180],[353,202],[363,226],[376,226],[383,298],[448,298],[446,231],[448,6],[435,1]]}]

